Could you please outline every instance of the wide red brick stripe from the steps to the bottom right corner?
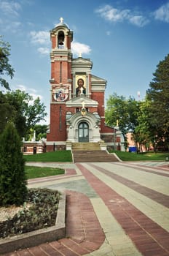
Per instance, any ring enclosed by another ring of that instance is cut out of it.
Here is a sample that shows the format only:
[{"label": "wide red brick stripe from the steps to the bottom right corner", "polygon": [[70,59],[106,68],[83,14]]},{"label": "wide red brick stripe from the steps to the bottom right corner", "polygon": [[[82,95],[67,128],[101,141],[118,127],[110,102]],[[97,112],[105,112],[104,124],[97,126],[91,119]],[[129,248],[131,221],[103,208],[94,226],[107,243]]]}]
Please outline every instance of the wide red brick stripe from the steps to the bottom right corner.
[{"label": "wide red brick stripe from the steps to the bottom right corner", "polygon": [[[111,214],[117,219],[142,255],[169,255],[169,234],[166,230],[153,222],[152,219],[149,219],[149,217],[146,217],[145,214],[125,200],[125,197],[117,194],[103,181],[90,173],[86,167],[81,164],[76,165],[93,189],[95,189],[95,192],[103,199]],[[93,166],[93,164],[89,165]],[[97,166],[96,168],[100,171],[105,171],[101,167]],[[125,184],[124,179],[123,184]]]}]

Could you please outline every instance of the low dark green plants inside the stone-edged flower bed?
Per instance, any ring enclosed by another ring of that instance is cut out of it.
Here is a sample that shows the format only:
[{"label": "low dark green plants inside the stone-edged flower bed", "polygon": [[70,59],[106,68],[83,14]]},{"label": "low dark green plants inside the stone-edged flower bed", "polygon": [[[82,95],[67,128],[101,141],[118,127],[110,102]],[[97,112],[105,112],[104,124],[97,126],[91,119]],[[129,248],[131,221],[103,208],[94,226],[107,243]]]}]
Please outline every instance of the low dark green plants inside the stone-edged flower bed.
[{"label": "low dark green plants inside the stone-edged flower bed", "polygon": [[[28,189],[28,200],[12,219],[0,222],[0,238],[55,225],[60,193],[52,189]],[[31,204],[30,207],[27,206]]]}]

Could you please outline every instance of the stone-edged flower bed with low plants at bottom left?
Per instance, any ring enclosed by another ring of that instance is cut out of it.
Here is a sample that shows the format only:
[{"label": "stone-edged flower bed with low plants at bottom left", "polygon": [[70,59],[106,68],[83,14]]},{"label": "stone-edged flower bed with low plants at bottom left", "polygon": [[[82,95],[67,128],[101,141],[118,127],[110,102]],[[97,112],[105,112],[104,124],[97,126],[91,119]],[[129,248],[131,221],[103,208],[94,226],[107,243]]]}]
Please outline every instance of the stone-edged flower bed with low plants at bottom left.
[{"label": "stone-edged flower bed with low plants at bottom left", "polygon": [[60,200],[60,193],[50,189],[29,189],[28,195],[32,206],[18,211],[13,222],[0,222],[0,254],[65,236],[65,195]]}]

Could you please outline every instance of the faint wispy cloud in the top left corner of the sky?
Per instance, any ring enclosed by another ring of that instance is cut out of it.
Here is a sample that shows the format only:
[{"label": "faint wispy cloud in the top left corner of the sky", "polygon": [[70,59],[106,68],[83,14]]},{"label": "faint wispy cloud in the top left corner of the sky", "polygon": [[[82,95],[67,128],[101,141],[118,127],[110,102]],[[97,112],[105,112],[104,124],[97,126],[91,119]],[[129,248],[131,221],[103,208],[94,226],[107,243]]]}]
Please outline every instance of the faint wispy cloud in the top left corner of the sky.
[{"label": "faint wispy cloud in the top left corner of the sky", "polygon": [[0,10],[4,15],[18,16],[18,11],[21,9],[20,4],[15,1],[1,1]]}]

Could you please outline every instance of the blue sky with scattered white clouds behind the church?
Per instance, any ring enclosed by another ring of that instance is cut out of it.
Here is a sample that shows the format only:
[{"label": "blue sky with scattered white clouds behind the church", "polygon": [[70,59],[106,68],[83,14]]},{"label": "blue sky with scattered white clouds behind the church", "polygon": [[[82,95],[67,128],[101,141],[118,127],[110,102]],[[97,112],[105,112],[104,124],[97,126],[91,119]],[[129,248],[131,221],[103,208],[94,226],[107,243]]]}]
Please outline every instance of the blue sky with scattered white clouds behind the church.
[{"label": "blue sky with scattered white clouds behind the church", "polygon": [[111,94],[143,100],[157,64],[169,53],[169,0],[0,0],[0,35],[11,45],[12,90],[40,97],[50,122],[50,30],[64,19],[73,57],[93,61],[92,74]]}]

